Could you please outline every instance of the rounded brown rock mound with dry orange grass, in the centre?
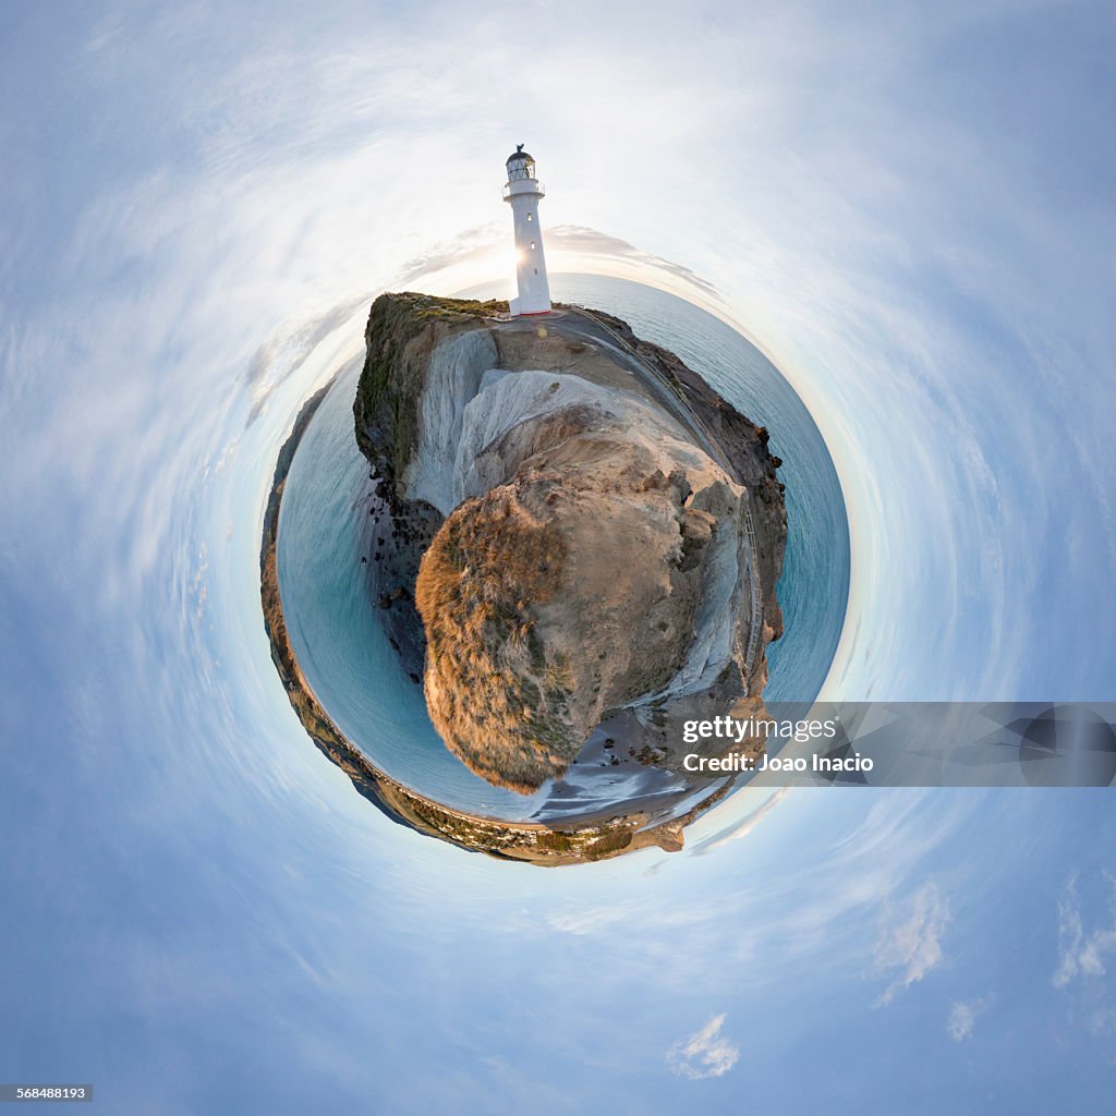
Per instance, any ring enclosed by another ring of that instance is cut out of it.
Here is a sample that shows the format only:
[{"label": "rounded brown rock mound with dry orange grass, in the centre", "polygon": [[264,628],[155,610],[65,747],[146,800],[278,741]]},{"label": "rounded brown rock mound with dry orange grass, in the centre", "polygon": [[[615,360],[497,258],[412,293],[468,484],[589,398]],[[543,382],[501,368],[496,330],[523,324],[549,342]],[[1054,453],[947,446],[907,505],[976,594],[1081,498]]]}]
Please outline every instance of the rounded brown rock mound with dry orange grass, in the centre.
[{"label": "rounded brown rock mound with dry orange grass, in the centre", "polygon": [[485,459],[494,487],[419,574],[426,700],[470,768],[530,791],[607,710],[677,676],[743,489],[652,415],[638,430],[584,404],[516,423]]}]

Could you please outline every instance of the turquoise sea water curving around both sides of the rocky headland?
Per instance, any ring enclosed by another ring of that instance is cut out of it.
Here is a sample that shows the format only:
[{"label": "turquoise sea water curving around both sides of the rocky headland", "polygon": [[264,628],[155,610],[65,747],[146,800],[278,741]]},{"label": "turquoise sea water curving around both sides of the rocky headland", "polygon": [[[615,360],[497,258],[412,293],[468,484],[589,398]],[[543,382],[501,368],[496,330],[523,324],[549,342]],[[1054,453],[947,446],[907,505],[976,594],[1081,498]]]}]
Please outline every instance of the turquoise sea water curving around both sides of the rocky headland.
[{"label": "turquoise sea water curving around both sides of the rocky headland", "polygon": [[[840,636],[849,542],[837,474],[809,412],[753,345],[680,298],[595,276],[556,276],[554,292],[626,319],[770,430],[771,451],[783,459],[788,538],[778,590],[786,632],[768,652],[766,693],[770,700],[812,699]],[[530,816],[548,787],[530,797],[501,790],[445,749],[421,687],[401,667],[371,602],[359,560],[368,469],[352,414],[359,365],[344,368],[311,421],[283,494],[279,584],[295,653],[338,728],[393,778],[459,809]]]}]

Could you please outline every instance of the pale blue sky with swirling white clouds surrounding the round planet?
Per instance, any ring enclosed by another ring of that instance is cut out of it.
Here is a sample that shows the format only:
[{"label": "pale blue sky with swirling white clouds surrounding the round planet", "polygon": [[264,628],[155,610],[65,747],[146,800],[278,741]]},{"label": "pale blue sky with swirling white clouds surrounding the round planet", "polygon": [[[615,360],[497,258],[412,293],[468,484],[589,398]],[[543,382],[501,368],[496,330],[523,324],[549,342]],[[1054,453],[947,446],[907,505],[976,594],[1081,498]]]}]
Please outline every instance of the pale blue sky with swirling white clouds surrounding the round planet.
[{"label": "pale blue sky with swirling white clouds surrounding the round planet", "polygon": [[827,696],[1112,700],[1114,39],[1103,3],[0,4],[0,1083],[1104,1110],[1107,791],[741,793],[673,856],[468,856],[307,745],[254,564],[371,299],[510,273],[523,142],[552,270],[709,309],[818,423]]}]

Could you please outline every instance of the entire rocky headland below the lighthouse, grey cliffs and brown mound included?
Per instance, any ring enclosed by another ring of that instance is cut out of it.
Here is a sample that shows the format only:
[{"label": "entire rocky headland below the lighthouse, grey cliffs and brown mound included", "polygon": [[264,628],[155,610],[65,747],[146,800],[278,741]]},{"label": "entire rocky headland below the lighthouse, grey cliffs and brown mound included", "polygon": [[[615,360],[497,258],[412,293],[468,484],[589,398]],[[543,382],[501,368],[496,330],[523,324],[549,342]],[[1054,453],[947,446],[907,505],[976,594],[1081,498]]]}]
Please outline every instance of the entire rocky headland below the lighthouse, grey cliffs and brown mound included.
[{"label": "entire rocky headland below the lighthouse, grey cliffs and brown mound included", "polygon": [[[682,401],[664,404],[662,385],[585,339],[575,311],[548,319],[536,343],[533,330],[479,316],[489,307],[473,317],[469,304],[442,305],[377,300],[355,412],[398,533],[408,509],[424,538],[445,517],[410,588],[427,708],[446,745],[527,793],[560,777],[609,714],[631,708],[665,723],[758,694],[762,648],[781,631],[773,587],[786,537],[763,432],[698,377],[686,402],[665,363],[676,358],[647,350],[641,366],[663,364]],[[686,422],[695,405],[747,443],[735,456],[701,444],[702,423]],[[749,507],[762,538],[749,537]],[[771,606],[759,616],[753,566]],[[748,663],[752,625],[762,637]]]}]

